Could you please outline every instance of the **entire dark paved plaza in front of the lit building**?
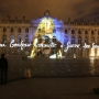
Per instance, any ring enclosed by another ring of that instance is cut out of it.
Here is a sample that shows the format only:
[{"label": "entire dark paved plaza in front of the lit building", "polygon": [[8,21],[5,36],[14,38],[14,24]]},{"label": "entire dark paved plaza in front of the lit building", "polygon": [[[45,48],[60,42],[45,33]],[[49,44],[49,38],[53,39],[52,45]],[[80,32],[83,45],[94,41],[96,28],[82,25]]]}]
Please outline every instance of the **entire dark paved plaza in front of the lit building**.
[{"label": "entire dark paved plaza in front of the lit building", "polygon": [[[0,99],[99,99],[98,59],[9,58],[8,84],[0,85]],[[24,70],[31,78],[24,78]]]}]

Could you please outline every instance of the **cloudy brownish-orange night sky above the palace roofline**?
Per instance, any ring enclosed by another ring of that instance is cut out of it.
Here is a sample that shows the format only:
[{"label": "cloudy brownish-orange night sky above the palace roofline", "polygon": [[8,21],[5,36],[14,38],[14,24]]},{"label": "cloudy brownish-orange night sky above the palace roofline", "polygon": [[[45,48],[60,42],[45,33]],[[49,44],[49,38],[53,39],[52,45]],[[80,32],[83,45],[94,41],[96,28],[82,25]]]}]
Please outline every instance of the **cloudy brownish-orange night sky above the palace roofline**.
[{"label": "cloudy brownish-orange night sky above the palace roofline", "polygon": [[0,16],[7,19],[36,19],[43,16],[46,6],[53,18],[84,20],[99,19],[99,0],[0,0]]}]

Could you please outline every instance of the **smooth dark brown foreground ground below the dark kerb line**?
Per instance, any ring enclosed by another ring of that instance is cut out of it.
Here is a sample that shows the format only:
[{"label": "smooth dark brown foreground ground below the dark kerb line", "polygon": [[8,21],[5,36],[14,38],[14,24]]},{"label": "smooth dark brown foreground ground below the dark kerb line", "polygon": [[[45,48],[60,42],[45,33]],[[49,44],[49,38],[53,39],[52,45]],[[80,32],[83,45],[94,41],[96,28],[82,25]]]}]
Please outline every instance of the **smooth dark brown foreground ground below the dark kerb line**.
[{"label": "smooth dark brown foreground ground below the dark kerb line", "polygon": [[98,77],[30,78],[0,85],[0,99],[99,99]]}]

